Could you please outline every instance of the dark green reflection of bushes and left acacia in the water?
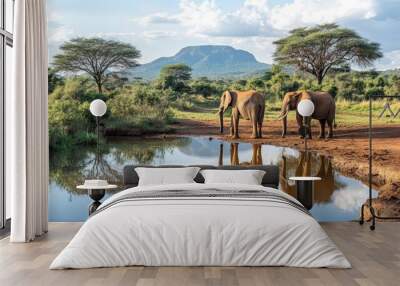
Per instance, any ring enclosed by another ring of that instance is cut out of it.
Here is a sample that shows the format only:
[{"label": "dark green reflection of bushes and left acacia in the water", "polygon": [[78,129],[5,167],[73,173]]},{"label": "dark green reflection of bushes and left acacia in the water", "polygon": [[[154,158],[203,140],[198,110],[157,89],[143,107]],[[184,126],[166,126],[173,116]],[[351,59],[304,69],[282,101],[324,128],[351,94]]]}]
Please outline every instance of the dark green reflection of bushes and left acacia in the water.
[{"label": "dark green reflection of bushes and left acacia in the water", "polygon": [[83,146],[63,150],[50,157],[50,180],[68,192],[86,194],[76,189],[85,179],[99,178],[111,184],[122,183],[122,169],[127,164],[152,164],[167,152],[189,144],[188,138],[168,140],[117,140],[96,147]]}]

